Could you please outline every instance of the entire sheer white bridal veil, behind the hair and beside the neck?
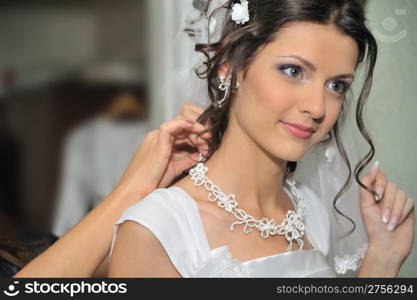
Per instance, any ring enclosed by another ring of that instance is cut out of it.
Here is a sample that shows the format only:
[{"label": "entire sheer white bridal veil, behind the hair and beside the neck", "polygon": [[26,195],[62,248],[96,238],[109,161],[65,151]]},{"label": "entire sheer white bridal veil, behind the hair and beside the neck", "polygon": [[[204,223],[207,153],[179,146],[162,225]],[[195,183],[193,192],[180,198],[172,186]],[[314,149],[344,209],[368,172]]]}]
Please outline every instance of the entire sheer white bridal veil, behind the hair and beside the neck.
[{"label": "entire sheer white bridal veil, behind the hair and beside the neck", "polygon": [[[190,0],[190,13],[185,20],[185,32],[195,43],[207,43],[208,30],[210,42],[218,41],[226,9],[219,9],[227,0]],[[208,4],[209,3],[209,4]],[[192,4],[192,5],[191,5]],[[216,10],[216,13],[208,24],[207,17]],[[201,66],[205,57],[194,52],[190,58],[190,65],[185,66],[179,73],[176,88],[180,99],[187,99],[200,106],[208,106],[210,103],[207,93],[206,80],[199,79],[194,69]],[[191,88],[184,88],[191,87]],[[353,175],[353,168],[358,162],[358,154],[352,135],[352,128],[348,122],[339,124],[339,135],[349,158],[352,174],[350,185],[342,193],[337,201],[337,208],[344,215],[352,219],[356,224],[355,231],[347,235],[353,224],[333,208],[333,200],[343,187],[349,175],[348,167],[338,151],[335,137],[329,143],[318,144],[310,149],[304,157],[297,162],[297,169],[293,178],[308,186],[323,201],[328,210],[330,220],[329,253],[326,259],[339,277],[354,277],[368,247],[368,235],[366,233],[360,208],[359,185]]]}]

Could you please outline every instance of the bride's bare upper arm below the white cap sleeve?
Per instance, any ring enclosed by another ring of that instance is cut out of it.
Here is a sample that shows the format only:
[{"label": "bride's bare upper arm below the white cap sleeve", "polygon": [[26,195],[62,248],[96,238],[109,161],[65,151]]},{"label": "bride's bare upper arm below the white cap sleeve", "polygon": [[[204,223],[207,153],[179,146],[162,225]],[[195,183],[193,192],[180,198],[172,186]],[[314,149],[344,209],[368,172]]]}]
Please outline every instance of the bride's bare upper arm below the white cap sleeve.
[{"label": "bride's bare upper arm below the white cap sleeve", "polygon": [[181,277],[159,240],[134,221],[118,227],[107,276]]}]

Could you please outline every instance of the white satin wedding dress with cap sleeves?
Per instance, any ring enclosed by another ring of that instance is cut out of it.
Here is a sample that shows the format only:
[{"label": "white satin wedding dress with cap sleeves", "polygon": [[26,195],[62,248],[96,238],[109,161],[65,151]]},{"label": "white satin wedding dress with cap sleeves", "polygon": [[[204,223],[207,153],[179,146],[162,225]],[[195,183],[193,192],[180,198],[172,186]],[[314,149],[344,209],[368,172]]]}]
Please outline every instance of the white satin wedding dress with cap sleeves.
[{"label": "white satin wedding dress with cap sleeves", "polygon": [[154,234],[182,277],[336,277],[326,260],[330,228],[325,209],[307,186],[297,182],[296,187],[305,199],[305,234],[314,249],[245,262],[234,259],[227,245],[210,249],[196,202],[173,186],[155,190],[123,213],[114,227],[110,256],[118,225],[130,220]]}]

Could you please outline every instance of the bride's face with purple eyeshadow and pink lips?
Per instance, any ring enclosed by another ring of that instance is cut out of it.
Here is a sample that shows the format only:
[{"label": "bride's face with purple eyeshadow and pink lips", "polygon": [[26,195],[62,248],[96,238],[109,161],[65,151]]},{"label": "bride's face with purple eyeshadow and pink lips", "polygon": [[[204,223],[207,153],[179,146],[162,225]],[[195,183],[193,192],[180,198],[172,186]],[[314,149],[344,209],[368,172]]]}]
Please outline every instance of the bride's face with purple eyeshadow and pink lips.
[{"label": "bride's face with purple eyeshadow and pink lips", "polygon": [[[246,77],[239,74],[230,118],[266,152],[297,161],[337,121],[357,59],[356,42],[334,26],[288,23],[258,52]],[[316,131],[302,138],[283,122]]]}]

